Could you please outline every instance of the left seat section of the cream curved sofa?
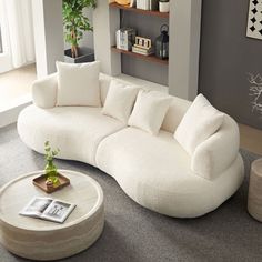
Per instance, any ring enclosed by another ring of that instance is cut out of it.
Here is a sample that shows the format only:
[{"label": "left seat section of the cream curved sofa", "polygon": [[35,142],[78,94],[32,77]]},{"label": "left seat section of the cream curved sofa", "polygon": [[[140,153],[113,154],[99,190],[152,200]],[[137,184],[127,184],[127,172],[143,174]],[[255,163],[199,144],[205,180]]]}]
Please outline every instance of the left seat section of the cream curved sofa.
[{"label": "left seat section of the cream curved sofa", "polygon": [[95,164],[98,144],[125,125],[101,113],[101,108],[66,107],[40,109],[30,105],[18,119],[18,132],[31,149],[44,153],[43,143],[59,148],[59,158]]}]

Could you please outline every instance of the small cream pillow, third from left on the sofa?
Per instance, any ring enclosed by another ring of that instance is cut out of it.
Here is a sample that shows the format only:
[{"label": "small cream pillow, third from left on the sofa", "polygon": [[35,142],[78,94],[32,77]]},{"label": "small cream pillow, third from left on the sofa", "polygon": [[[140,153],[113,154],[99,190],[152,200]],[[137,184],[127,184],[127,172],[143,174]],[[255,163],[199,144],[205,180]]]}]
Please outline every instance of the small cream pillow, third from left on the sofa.
[{"label": "small cream pillow, third from left on the sofa", "polygon": [[140,90],[128,124],[157,135],[171,101],[162,92]]}]

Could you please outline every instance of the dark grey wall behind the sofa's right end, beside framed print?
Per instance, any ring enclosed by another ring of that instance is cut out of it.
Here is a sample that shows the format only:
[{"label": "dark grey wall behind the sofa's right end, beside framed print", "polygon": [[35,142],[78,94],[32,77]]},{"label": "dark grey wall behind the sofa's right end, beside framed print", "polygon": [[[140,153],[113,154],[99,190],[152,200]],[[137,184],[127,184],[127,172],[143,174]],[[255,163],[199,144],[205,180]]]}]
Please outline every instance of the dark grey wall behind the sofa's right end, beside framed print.
[{"label": "dark grey wall behind the sofa's right end, beside framed print", "polygon": [[236,121],[262,129],[248,73],[262,74],[262,40],[245,37],[249,0],[203,0],[199,92]]}]

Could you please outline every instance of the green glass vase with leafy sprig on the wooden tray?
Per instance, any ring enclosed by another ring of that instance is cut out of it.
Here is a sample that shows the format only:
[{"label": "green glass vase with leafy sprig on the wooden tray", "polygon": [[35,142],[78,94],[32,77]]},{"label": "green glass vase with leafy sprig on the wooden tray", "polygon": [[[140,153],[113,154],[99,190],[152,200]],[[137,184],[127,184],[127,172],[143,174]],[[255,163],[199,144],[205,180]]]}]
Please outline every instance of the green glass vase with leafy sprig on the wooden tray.
[{"label": "green glass vase with leafy sprig on the wooden tray", "polygon": [[58,169],[53,163],[53,158],[58,155],[59,149],[52,150],[50,147],[49,141],[44,143],[44,151],[46,151],[46,167],[44,167],[44,174],[46,174],[46,184],[50,188],[57,188],[60,184],[59,177],[58,177]]}]

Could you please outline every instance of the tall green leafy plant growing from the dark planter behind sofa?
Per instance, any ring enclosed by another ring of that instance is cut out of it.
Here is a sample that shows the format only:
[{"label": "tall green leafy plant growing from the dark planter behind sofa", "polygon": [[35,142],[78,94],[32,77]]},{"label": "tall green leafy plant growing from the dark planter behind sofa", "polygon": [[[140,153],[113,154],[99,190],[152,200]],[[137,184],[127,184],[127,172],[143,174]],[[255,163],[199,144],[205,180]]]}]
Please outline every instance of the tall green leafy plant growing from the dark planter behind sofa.
[{"label": "tall green leafy plant growing from the dark planter behind sofa", "polygon": [[63,26],[66,42],[71,44],[71,57],[79,57],[79,41],[84,31],[92,31],[84,8],[95,8],[97,0],[63,0]]}]

